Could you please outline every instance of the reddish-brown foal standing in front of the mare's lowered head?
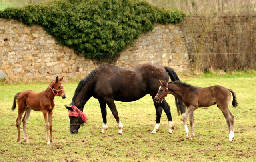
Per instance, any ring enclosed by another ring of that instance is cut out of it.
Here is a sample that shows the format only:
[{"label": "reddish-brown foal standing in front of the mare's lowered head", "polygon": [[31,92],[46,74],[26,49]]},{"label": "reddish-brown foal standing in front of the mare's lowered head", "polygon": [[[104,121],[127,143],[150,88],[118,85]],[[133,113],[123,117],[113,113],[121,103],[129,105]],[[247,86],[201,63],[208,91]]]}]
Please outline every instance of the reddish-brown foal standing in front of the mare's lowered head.
[{"label": "reddish-brown foal standing in front of the mare's lowered head", "polygon": [[[34,111],[42,111],[44,115],[45,121],[45,129],[46,129],[46,142],[47,144],[53,143],[52,141],[52,110],[55,106],[54,97],[61,96],[63,99],[66,98],[66,93],[63,89],[63,85],[61,83],[63,77],[59,79],[56,77],[56,80],[52,81],[50,85],[43,92],[36,93],[32,90],[25,90],[23,92],[19,92],[15,95],[13,100],[12,111],[16,108],[16,100],[18,103],[18,117],[17,117],[17,129],[18,129],[18,137],[17,141],[20,143],[20,124],[23,113],[25,115],[22,119],[23,122],[23,131],[24,131],[24,141],[28,143],[27,138],[27,123],[28,117],[30,115],[31,110]],[[49,138],[49,130],[50,130],[50,138]]]}]

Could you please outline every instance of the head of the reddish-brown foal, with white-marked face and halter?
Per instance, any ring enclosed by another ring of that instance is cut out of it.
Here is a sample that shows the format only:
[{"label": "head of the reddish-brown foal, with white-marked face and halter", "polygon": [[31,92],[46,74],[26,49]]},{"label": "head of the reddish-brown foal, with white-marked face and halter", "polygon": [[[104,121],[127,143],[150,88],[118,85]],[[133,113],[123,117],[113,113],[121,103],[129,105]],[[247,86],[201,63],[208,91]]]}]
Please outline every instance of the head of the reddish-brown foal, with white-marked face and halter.
[{"label": "head of the reddish-brown foal, with white-marked face and halter", "polygon": [[52,92],[55,96],[61,96],[61,98],[65,99],[67,94],[64,91],[63,84],[62,84],[62,78],[59,79],[59,76],[56,77],[54,81],[52,81],[49,85],[49,87],[52,89]]}]

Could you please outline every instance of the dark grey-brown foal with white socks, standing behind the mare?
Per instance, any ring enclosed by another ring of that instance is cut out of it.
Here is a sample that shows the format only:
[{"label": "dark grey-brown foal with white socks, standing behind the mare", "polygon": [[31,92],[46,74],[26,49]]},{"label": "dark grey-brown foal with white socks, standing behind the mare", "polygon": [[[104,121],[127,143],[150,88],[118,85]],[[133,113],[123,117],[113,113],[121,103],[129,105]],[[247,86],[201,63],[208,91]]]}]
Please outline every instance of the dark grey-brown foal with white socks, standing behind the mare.
[{"label": "dark grey-brown foal with white socks, standing behind the mare", "polygon": [[[192,140],[195,136],[194,133],[194,111],[198,107],[209,107],[217,104],[217,107],[222,111],[226,123],[228,124],[229,142],[234,138],[234,115],[228,109],[228,104],[231,100],[230,92],[233,96],[232,105],[236,107],[238,105],[236,101],[236,93],[234,90],[222,87],[222,86],[210,86],[210,87],[196,87],[189,84],[175,81],[169,82],[159,80],[161,86],[154,98],[156,102],[164,100],[167,94],[172,94],[176,98],[180,99],[184,105],[188,108],[182,116],[182,121],[185,127],[186,139]],[[191,135],[188,136],[188,127],[186,119],[189,115],[189,122],[191,127]]]}]

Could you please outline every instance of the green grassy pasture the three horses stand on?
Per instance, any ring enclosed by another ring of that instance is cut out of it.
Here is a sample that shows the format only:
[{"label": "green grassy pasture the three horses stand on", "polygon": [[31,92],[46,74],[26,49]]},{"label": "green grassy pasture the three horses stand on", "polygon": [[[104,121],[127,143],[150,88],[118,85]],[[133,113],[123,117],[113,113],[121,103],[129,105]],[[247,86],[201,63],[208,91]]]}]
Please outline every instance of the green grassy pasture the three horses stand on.
[{"label": "green grassy pasture the three horses stand on", "polygon": [[[107,109],[108,130],[100,134],[102,116],[98,100],[90,98],[84,107],[87,122],[78,134],[69,132],[69,105],[78,85],[77,81],[62,81],[66,99],[55,97],[53,110],[53,141],[46,145],[46,130],[42,112],[31,111],[28,119],[28,142],[18,144],[16,118],[17,107],[11,111],[14,95],[32,89],[41,92],[50,82],[19,84],[0,83],[0,161],[2,162],[80,162],[80,161],[255,161],[256,160],[256,72],[232,74],[202,74],[185,76],[178,74],[183,82],[193,86],[221,85],[236,92],[238,107],[229,104],[234,114],[234,140],[228,142],[228,126],[216,105],[194,111],[195,137],[187,141],[182,115],[178,116],[174,96],[166,100],[171,107],[175,125],[168,134],[168,121],[164,111],[160,130],[154,129],[156,112],[151,96],[130,102],[117,102],[116,107],[124,125],[124,135],[118,135],[118,127],[110,109]],[[187,123],[189,123],[187,119]],[[190,126],[188,124],[190,131]],[[190,133],[190,132],[189,132]],[[21,140],[23,129],[20,131]]]}]

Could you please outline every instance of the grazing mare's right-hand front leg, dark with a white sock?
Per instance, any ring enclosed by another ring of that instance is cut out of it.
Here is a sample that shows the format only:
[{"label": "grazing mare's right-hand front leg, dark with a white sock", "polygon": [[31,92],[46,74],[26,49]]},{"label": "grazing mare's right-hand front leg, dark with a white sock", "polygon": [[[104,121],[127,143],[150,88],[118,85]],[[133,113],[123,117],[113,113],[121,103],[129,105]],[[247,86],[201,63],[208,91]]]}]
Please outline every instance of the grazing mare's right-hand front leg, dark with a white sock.
[{"label": "grazing mare's right-hand front leg, dark with a white sock", "polygon": [[106,98],[105,102],[108,104],[108,107],[110,108],[113,116],[116,119],[116,122],[118,124],[118,134],[123,135],[122,131],[124,130],[124,127],[123,127],[123,125],[122,125],[122,123],[119,119],[118,112],[117,112],[117,109],[116,109],[116,105],[114,103],[114,99],[113,98]]}]

